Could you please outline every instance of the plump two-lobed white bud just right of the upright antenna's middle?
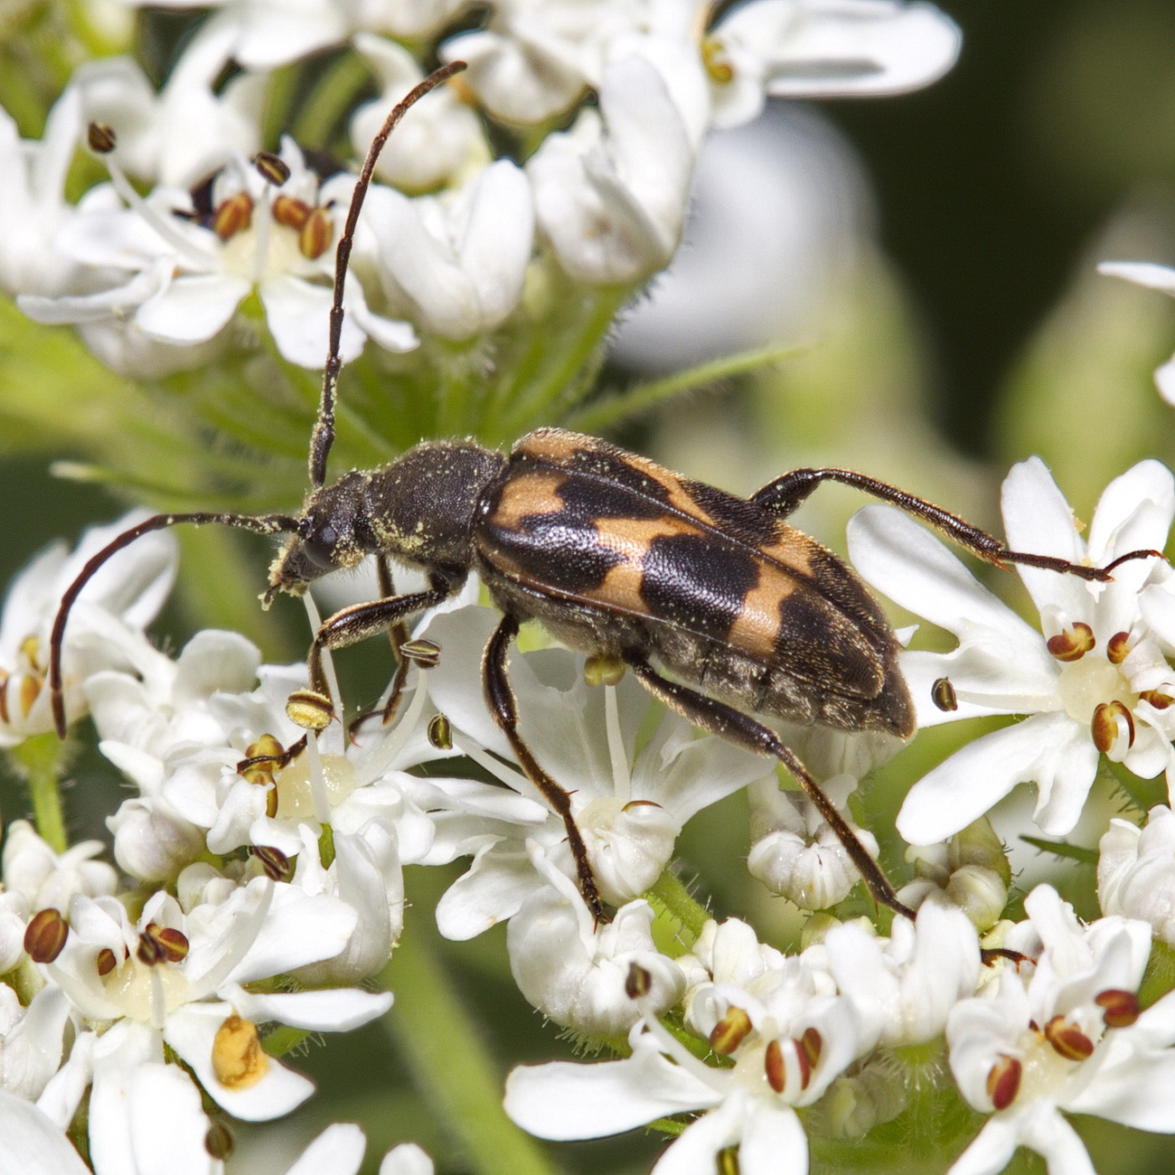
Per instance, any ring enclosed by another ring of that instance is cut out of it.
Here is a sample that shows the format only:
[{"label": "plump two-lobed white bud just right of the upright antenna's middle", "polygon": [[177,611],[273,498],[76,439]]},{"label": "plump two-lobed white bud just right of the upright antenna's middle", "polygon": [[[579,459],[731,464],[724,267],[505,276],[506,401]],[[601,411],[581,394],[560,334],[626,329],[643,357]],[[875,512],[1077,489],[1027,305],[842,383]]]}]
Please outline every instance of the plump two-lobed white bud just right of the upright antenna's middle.
[{"label": "plump two-lobed white bud just right of the upright antenna's middle", "polygon": [[526,177],[510,160],[456,192],[408,196],[372,189],[367,223],[392,306],[445,338],[491,330],[518,304],[535,235]]}]

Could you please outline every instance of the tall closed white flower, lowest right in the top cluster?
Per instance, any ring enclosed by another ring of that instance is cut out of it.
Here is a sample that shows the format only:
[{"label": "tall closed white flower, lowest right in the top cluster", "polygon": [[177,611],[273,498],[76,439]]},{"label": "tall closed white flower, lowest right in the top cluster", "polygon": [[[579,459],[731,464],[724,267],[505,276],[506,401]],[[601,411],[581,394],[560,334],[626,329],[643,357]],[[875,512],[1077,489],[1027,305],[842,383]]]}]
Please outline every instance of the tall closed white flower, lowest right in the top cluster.
[{"label": "tall closed white flower, lowest right in the top cluster", "polygon": [[559,264],[593,284],[634,282],[673,256],[693,170],[686,123],[645,58],[609,65],[599,110],[548,135],[526,163]]}]

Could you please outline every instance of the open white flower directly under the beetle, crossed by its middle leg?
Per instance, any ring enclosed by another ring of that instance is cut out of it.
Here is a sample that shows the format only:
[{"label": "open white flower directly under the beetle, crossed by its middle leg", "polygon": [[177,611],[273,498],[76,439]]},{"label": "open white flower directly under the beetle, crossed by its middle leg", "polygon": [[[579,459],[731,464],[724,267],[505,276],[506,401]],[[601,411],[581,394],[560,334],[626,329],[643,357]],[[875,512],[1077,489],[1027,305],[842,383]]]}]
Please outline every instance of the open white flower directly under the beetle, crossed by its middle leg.
[{"label": "open white flower directly under the beetle, crossed by its middle leg", "polygon": [[[508,761],[513,753],[485,709],[478,676],[481,651],[498,615],[462,609],[437,616],[427,636],[441,645],[429,692],[454,727],[455,744],[522,799],[513,812],[437,820],[448,859],[476,854],[437,906],[446,938],[468,939],[512,918],[524,898],[545,881],[525,847],[533,840],[568,875],[575,866],[563,821]],[[694,738],[693,727],[667,714],[634,754],[647,693],[630,676],[618,686],[590,689],[583,659],[564,650],[515,654],[510,682],[518,699],[519,733],[542,767],[571,794],[596,880],[606,901],[622,906],[660,877],[682,826],[696,812],[752,779],[773,776],[768,760],[714,736]],[[485,750],[483,750],[485,748]],[[525,803],[523,803],[523,800]]]}]

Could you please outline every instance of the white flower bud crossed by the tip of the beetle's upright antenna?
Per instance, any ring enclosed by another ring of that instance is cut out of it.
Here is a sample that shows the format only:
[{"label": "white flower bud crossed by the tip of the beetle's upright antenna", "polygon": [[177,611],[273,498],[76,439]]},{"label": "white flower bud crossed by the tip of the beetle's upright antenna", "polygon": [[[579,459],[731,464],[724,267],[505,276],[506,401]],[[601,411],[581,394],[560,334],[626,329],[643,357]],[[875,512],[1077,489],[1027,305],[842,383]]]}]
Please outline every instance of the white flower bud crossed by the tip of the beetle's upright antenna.
[{"label": "white flower bud crossed by the tip of the beetle's upright antenna", "polygon": [[[380,96],[351,116],[351,146],[362,157],[388,112],[424,80],[424,70],[395,41],[358,33],[354,43],[382,86]],[[459,183],[491,157],[477,115],[451,85],[439,86],[404,115],[380,154],[375,174],[403,192],[416,194]]]}]

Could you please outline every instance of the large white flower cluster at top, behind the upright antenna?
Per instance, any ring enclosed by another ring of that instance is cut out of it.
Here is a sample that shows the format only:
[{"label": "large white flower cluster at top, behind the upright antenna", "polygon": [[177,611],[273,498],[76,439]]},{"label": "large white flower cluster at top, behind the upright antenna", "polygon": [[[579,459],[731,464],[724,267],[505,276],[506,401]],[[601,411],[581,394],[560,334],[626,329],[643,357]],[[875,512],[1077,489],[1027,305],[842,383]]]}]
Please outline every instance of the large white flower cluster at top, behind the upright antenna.
[{"label": "large white flower cluster at top, behind the upright antenna", "polygon": [[[227,0],[159,93],[128,58],[87,62],[40,142],[21,142],[0,115],[11,224],[0,286],[135,376],[240,347],[234,323],[254,303],[284,360],[321,368],[352,177],[290,136],[250,160],[264,146],[269,72],[349,42],[352,74],[382,90],[337,112],[360,154],[421,81],[422,60],[469,68],[419,101],[378,163],[343,357],[368,341],[400,354],[422,338],[476,340],[515,314],[528,273],[544,266],[589,287],[662,269],[710,126],[745,122],[767,95],[916,88],[959,48],[936,9],[891,0],[754,0],[713,25],[700,4],[503,0],[483,28],[446,35],[464,8],[323,0],[294,16],[271,0]],[[524,167],[495,159],[491,130],[519,141]],[[69,162],[87,141],[109,179],[70,203]]]}]

